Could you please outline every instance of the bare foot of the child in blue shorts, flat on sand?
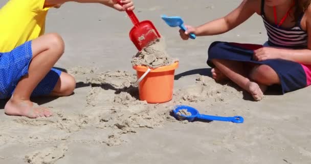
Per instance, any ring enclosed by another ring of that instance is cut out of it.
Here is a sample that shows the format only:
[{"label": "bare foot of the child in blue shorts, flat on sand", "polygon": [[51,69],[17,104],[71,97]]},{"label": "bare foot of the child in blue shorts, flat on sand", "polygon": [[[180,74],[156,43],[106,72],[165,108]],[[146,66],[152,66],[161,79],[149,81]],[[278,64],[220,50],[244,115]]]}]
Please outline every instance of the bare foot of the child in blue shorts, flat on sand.
[{"label": "bare foot of the child in blue shorts, flat on sand", "polygon": [[4,110],[7,115],[26,116],[29,118],[52,116],[50,110],[40,107],[30,100],[16,101],[11,98],[4,107]]}]

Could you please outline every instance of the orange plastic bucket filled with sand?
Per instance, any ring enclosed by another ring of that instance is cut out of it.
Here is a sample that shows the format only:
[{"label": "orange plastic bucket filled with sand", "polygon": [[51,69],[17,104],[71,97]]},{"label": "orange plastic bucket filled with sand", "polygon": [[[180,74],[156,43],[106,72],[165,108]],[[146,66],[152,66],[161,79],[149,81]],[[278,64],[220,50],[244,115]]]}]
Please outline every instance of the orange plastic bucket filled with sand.
[{"label": "orange plastic bucket filled with sand", "polygon": [[[178,61],[169,65],[151,69],[139,83],[139,99],[147,103],[165,103],[173,98],[174,74]],[[145,66],[134,66],[139,79],[147,70]]]}]

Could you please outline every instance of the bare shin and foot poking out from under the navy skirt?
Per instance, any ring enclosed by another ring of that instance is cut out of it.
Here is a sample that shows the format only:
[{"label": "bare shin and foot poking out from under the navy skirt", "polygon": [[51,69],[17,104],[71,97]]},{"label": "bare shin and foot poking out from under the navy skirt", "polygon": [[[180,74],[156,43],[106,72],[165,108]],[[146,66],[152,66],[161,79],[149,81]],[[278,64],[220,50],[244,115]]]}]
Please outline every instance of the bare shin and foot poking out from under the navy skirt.
[{"label": "bare shin and foot poking out from under the navy skirt", "polygon": [[243,65],[239,61],[212,59],[212,62],[225,76],[242,89],[252,94],[255,100],[262,99],[263,91],[266,87],[250,81],[250,79],[247,78],[250,72],[243,69]]}]

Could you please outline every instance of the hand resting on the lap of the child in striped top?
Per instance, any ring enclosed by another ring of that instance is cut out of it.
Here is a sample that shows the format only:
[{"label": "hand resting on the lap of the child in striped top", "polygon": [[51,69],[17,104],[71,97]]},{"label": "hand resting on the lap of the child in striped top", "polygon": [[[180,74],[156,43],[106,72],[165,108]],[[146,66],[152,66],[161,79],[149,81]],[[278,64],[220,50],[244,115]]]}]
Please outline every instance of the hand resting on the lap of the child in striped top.
[{"label": "hand resting on the lap of the child in striped top", "polygon": [[281,58],[281,49],[272,47],[262,47],[254,50],[253,58],[257,61]]}]

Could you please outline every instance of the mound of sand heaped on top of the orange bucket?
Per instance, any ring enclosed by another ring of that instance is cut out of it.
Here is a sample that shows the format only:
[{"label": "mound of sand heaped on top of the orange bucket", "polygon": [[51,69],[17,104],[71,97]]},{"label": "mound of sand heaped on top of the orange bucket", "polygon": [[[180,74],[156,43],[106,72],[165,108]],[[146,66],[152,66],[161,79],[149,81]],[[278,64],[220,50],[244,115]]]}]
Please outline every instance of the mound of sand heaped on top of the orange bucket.
[{"label": "mound of sand heaped on top of the orange bucket", "polygon": [[173,64],[177,59],[170,57],[166,52],[165,39],[160,38],[139,51],[132,57],[132,66],[147,66],[158,68]]}]

